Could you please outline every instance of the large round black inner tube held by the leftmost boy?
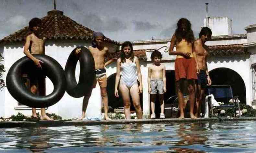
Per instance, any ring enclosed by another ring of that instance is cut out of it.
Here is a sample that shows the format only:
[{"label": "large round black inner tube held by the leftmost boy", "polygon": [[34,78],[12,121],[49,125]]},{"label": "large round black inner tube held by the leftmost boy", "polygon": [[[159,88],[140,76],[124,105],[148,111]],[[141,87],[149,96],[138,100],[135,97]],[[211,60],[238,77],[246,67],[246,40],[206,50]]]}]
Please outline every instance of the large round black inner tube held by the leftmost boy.
[{"label": "large round black inner tube held by the leftmost boy", "polygon": [[[42,73],[52,81],[54,89],[50,95],[37,96],[27,90],[22,75],[26,67],[34,65],[33,61],[27,56],[17,60],[9,69],[6,76],[6,86],[12,97],[19,103],[29,107],[44,108],[57,103],[64,95],[66,90],[66,79],[62,66],[47,55],[34,54],[37,59],[43,61]],[[29,70],[27,70],[29,71]]]}]

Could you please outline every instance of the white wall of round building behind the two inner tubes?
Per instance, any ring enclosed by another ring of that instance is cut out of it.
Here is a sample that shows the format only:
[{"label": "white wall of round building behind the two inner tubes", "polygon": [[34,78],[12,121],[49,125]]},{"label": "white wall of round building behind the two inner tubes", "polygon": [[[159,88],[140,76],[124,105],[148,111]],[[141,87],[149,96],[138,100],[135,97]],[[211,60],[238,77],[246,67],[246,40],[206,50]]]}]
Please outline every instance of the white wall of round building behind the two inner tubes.
[{"label": "white wall of round building behind the two inner tubes", "polygon": [[[54,58],[62,67],[65,68],[65,64],[67,61],[67,58],[71,51],[76,46],[89,46],[89,42],[85,41],[57,41],[55,43],[47,42],[45,44],[45,53],[48,56],[51,56]],[[4,47],[4,57],[5,57],[5,69],[6,72],[4,73],[4,80],[6,80],[6,75],[9,70],[9,68],[21,57],[25,56],[23,53],[23,43],[12,43],[11,45],[6,45]],[[79,62],[76,66],[76,79],[79,78]],[[46,94],[50,94],[53,91],[53,85],[49,78],[46,78]],[[13,114],[17,114],[18,112],[21,112],[25,115],[30,116],[31,115],[31,109],[26,106],[18,106],[18,102],[10,95],[7,88],[5,88],[2,92],[0,92],[1,96],[1,104],[5,111],[0,111],[0,116],[3,117],[10,117]],[[96,96],[95,96],[96,95]],[[93,90],[92,96],[89,100],[89,104],[87,107],[87,116],[88,114],[90,117],[94,117],[93,115],[97,114],[97,116],[100,115],[100,103],[101,99],[98,97],[100,95],[100,89],[99,85],[97,85],[96,89]],[[69,96],[67,93],[64,94],[63,98],[56,103],[55,105],[48,107],[47,111],[48,113],[56,113],[63,117],[63,119],[66,118],[74,118],[81,116],[82,112],[82,101],[83,97],[81,98],[74,98]],[[95,106],[97,106],[97,110],[95,109]],[[16,110],[15,108],[23,107],[22,110]],[[91,113],[94,112],[94,113]],[[95,116],[96,117],[96,116]]]}]

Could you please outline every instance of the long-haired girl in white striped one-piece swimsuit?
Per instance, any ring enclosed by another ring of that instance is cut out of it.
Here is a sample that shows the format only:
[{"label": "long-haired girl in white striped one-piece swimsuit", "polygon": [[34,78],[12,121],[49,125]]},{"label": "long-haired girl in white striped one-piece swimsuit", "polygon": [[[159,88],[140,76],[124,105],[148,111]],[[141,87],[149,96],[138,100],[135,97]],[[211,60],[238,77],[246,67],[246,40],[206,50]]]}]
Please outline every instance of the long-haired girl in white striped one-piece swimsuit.
[{"label": "long-haired girl in white striped one-piece swimsuit", "polygon": [[[117,60],[116,82],[115,82],[115,96],[118,95],[119,90],[122,95],[124,105],[124,115],[126,119],[131,119],[130,112],[130,95],[132,97],[133,105],[136,110],[138,119],[142,119],[142,110],[140,106],[140,93],[142,93],[142,76],[140,72],[140,63],[138,57],[134,56],[133,45],[126,41],[121,47],[121,58]],[[139,86],[137,83],[137,76],[139,79]],[[121,79],[120,79],[121,78]]]}]

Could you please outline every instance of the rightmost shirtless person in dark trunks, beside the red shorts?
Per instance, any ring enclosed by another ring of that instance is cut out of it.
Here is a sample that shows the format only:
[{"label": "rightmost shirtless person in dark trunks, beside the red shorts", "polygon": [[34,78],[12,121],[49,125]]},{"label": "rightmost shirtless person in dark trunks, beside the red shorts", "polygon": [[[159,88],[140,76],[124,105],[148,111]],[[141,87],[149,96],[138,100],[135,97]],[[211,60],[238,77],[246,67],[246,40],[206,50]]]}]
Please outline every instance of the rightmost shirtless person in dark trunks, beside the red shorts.
[{"label": "rightmost shirtless person in dark trunks, beside the red shorts", "polygon": [[198,117],[200,113],[200,106],[203,104],[205,100],[204,91],[206,85],[210,86],[212,84],[211,78],[209,76],[208,68],[207,68],[207,46],[205,42],[210,40],[212,36],[212,30],[208,27],[203,27],[201,32],[199,33],[199,39],[195,41],[195,53],[197,55],[198,66],[200,69],[199,74],[197,75],[198,80],[198,94],[196,98],[196,113],[195,116]]}]

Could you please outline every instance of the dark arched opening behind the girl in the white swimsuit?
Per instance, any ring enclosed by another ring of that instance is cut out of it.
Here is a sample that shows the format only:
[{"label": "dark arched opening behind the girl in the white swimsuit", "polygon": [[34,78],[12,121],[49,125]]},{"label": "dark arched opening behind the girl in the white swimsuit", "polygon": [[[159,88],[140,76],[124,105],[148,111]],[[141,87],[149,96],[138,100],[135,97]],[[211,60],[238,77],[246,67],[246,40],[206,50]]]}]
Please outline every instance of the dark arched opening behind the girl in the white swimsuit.
[{"label": "dark arched opening behind the girl in the white swimsuit", "polygon": [[[108,91],[108,99],[109,99],[109,106],[112,108],[119,108],[123,107],[123,100],[122,96],[119,93],[119,97],[115,97],[115,81],[116,81],[116,73],[110,75],[107,79],[107,91]],[[139,81],[138,81],[139,85]],[[132,103],[132,98],[131,99],[131,111],[135,111],[133,103]],[[141,108],[143,109],[143,94],[140,94],[140,105]]]}]

